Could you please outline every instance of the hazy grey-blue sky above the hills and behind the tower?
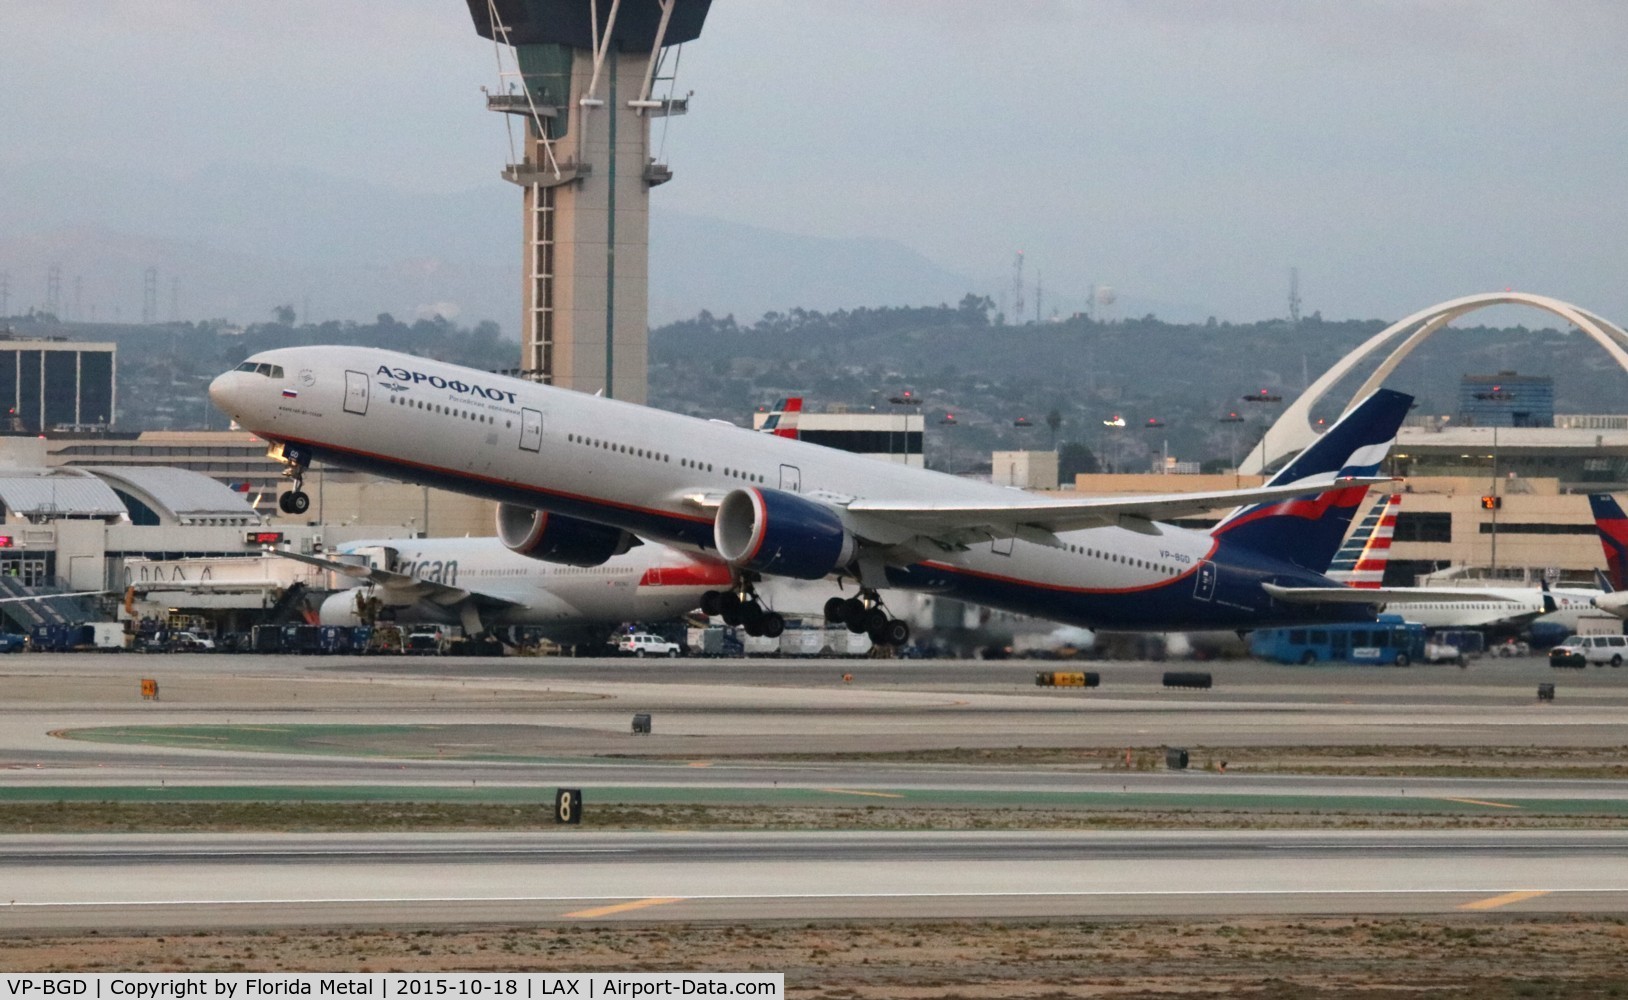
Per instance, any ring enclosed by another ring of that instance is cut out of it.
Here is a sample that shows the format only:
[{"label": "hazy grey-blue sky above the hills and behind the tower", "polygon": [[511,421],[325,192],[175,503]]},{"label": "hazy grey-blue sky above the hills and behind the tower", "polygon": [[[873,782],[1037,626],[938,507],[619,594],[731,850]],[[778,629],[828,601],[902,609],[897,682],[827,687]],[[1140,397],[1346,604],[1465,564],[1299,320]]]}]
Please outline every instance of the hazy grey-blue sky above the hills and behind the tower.
[{"label": "hazy grey-blue sky above the hills and behind the tower", "polygon": [[[1325,316],[1514,287],[1623,322],[1623,39],[1620,0],[716,0],[653,200],[980,277],[1022,249],[1063,303],[1258,319],[1298,265]],[[461,0],[10,0],[0,42],[0,164],[501,184]]]}]

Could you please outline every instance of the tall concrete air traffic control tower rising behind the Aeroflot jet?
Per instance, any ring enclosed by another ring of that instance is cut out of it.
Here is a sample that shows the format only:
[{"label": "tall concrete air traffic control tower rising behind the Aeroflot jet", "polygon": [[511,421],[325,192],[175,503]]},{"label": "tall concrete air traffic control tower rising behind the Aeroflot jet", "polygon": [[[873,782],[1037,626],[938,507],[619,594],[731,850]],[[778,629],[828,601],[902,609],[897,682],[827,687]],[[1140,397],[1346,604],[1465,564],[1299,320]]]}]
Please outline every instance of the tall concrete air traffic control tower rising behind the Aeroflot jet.
[{"label": "tall concrete air traffic control tower rising behind the Aeroflot jet", "polygon": [[498,49],[487,107],[511,116],[503,178],[524,191],[521,370],[645,402],[650,189],[672,178],[651,122],[687,103],[656,91],[711,0],[466,2]]}]

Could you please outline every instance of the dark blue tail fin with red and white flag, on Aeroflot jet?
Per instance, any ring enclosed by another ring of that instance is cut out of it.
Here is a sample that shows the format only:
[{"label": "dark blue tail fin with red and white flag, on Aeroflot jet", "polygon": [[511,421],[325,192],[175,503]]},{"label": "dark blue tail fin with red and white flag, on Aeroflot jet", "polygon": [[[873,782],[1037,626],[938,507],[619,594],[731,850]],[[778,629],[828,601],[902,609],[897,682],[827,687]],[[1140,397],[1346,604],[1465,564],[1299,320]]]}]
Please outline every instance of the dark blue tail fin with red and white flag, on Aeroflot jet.
[{"label": "dark blue tail fin with red and white flag, on Aeroflot jet", "polygon": [[[1377,476],[1411,406],[1413,397],[1405,393],[1376,389],[1294,456],[1268,485],[1293,485],[1328,476]],[[1229,513],[1210,534],[1224,546],[1242,546],[1324,573],[1340,550],[1340,541],[1364,495],[1368,487],[1359,485],[1275,503],[1250,503]]]}]

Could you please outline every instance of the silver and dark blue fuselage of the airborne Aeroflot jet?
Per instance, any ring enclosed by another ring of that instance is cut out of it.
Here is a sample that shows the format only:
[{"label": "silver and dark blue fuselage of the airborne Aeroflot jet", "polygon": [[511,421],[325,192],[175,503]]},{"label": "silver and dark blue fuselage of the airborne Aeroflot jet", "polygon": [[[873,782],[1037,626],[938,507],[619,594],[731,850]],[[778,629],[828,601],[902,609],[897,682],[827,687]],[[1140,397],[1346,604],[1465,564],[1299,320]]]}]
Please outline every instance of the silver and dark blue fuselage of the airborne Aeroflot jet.
[{"label": "silver and dark blue fuselage of the airborne Aeroflot jet", "polygon": [[[256,371],[254,368],[259,366]],[[711,507],[742,487],[842,507],[855,498],[1001,503],[1003,487],[361,347],[280,349],[221,375],[210,397],[293,461],[326,461],[715,549]],[[713,503],[708,505],[708,498]],[[891,586],[1110,629],[1252,629],[1369,621],[1363,606],[1283,604],[1263,581],[1320,573],[1210,534],[1091,528],[887,565]]]}]

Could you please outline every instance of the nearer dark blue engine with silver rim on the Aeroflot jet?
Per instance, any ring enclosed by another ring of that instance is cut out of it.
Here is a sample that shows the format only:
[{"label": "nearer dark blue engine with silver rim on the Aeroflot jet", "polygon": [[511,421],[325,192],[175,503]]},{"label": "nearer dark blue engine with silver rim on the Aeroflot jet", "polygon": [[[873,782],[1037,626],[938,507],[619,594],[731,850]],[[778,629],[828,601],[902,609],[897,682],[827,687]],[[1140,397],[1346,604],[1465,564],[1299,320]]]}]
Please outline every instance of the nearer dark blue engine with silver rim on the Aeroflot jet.
[{"label": "nearer dark blue engine with silver rim on the Aeroflot jet", "polygon": [[783,490],[734,490],[713,523],[718,554],[744,570],[821,580],[858,547],[837,511]]}]

